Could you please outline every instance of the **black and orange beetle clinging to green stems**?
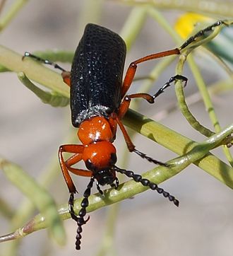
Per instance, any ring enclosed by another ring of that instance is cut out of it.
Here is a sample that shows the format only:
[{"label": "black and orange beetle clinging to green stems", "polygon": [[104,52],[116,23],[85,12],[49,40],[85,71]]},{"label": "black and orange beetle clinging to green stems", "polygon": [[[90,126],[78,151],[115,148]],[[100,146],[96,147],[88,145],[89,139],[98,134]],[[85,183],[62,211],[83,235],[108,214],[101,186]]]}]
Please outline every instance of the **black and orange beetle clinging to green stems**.
[{"label": "black and orange beetle clinging to green stems", "polygon": [[[134,93],[127,95],[138,64],[151,59],[180,54],[180,50],[175,48],[165,52],[150,54],[141,59],[131,62],[126,71],[126,76],[122,82],[124,72],[124,62],[126,58],[126,44],[117,34],[100,25],[89,23],[85,26],[83,37],[81,38],[73,57],[71,71],[66,71],[58,64],[41,59],[29,52],[25,52],[24,57],[32,57],[45,64],[51,64],[56,69],[60,69],[64,82],[70,86],[70,106],[71,121],[74,127],[78,128],[78,138],[82,144],[68,144],[59,147],[59,163],[70,192],[68,200],[71,218],[78,224],[76,236],[76,249],[80,250],[80,239],[82,237],[82,226],[87,223],[84,219],[86,208],[88,207],[88,197],[91,188],[96,180],[97,190],[103,194],[100,186],[110,185],[117,189],[119,180],[116,173],[122,173],[136,182],[141,182],[143,186],[157,190],[169,201],[179,206],[179,201],[158,187],[150,180],[142,178],[141,175],[133,173],[131,170],[124,170],[117,165],[117,150],[113,145],[116,139],[117,126],[124,135],[126,145],[130,152],[134,152],[146,160],[169,167],[167,163],[157,161],[145,153],[138,151],[126,132],[121,120],[129,109],[133,98],[143,98],[148,103],[155,103],[155,98],[165,91],[172,82],[177,79],[187,83],[185,76],[176,75],[162,86],[157,93]],[[63,153],[73,153],[64,160]],[[73,168],[72,165],[84,161],[87,170]],[[73,184],[70,173],[90,178],[88,187],[83,194],[81,209],[76,215],[73,210],[74,194],[77,192]]]}]

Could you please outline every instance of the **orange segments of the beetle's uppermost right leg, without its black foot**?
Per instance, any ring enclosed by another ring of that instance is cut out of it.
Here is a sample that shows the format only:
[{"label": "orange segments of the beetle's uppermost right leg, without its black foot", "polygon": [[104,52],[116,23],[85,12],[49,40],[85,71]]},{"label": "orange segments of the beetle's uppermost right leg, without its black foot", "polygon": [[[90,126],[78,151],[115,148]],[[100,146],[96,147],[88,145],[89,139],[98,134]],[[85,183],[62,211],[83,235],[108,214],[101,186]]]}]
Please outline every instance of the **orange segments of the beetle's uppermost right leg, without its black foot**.
[{"label": "orange segments of the beetle's uppermost right leg, without its black foot", "polygon": [[180,54],[180,51],[179,51],[178,48],[168,50],[168,51],[165,51],[165,52],[158,52],[158,53],[155,53],[155,54],[150,54],[148,56],[137,59],[134,62],[131,62],[131,64],[129,65],[129,68],[126,71],[126,76],[124,78],[124,83],[123,83],[123,86],[121,88],[121,98],[123,98],[124,95],[129,90],[129,88],[131,86],[131,83],[133,81],[134,75],[136,73],[136,69],[137,69],[138,64],[140,64],[142,62],[147,62],[148,60],[151,60],[151,59],[158,59],[158,58],[161,58],[161,57],[166,57],[166,56],[170,56],[170,55],[174,55],[174,54]]}]

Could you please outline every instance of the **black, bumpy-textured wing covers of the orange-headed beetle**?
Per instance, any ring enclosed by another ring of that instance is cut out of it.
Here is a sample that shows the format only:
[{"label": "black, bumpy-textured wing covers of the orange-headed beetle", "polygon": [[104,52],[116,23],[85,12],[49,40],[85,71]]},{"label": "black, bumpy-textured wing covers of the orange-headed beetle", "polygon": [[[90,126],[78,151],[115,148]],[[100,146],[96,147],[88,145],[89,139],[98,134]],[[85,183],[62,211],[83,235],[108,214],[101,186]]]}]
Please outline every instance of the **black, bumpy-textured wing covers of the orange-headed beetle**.
[{"label": "black, bumpy-textured wing covers of the orange-headed beetle", "polygon": [[119,35],[99,25],[86,25],[71,68],[74,127],[94,115],[107,117],[117,110],[125,56],[126,45]]}]

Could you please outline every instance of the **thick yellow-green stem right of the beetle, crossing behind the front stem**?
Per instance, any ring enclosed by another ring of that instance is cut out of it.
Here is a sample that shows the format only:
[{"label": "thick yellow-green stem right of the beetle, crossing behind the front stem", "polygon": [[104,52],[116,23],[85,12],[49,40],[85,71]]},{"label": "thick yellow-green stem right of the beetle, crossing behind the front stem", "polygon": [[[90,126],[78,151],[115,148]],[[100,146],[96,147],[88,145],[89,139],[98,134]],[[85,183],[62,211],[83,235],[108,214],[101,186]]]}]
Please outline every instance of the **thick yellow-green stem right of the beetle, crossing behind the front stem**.
[{"label": "thick yellow-green stem right of the beetle, crossing behind the front stem", "polygon": [[[195,141],[186,138],[186,136],[182,136],[162,124],[150,120],[147,117],[143,117],[143,115],[133,112],[133,110],[129,110],[129,112],[126,113],[124,124],[143,136],[148,137],[148,139],[152,139],[158,144],[165,146],[165,148],[177,153],[179,156],[182,156],[198,145]],[[231,132],[229,132],[229,134],[231,134]],[[215,139],[215,136],[217,136],[217,134],[210,137],[212,141],[213,138]],[[227,138],[227,136],[225,136],[225,138]],[[224,143],[225,138],[223,139],[222,137],[222,143]],[[213,142],[219,145],[220,139],[218,138],[218,141]],[[205,156],[201,162],[195,164],[210,175],[213,175],[217,180],[233,188],[233,173],[231,173],[233,169],[220,161],[220,159],[210,154]],[[222,166],[222,168],[220,168],[220,166]]]}]

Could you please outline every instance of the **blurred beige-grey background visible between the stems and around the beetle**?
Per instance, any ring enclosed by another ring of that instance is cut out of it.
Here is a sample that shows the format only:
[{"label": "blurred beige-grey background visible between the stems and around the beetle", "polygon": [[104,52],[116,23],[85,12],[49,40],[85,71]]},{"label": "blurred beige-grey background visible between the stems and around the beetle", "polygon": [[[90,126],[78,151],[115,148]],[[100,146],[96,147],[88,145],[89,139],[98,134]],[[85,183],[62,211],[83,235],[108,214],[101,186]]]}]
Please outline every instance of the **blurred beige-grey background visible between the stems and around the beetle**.
[{"label": "blurred beige-grey background visible between the stems and around the beetle", "polygon": [[[0,15],[7,12],[12,3],[13,1],[6,1]],[[133,5],[125,4],[124,1],[31,0],[2,31],[1,45],[20,54],[25,51],[54,49],[74,51],[86,23],[98,23],[121,33],[133,8]],[[181,13],[182,11],[168,8],[162,11],[162,15],[171,24],[174,24]],[[215,21],[218,18],[222,16],[216,16]],[[177,45],[172,38],[148,16],[127,54],[126,67],[135,59],[174,47]],[[197,52],[196,61],[208,85],[227,78],[226,72],[217,62],[205,54]],[[137,76],[147,76],[155,64],[156,61],[141,64]],[[61,66],[69,70],[71,65]],[[153,84],[150,93],[157,91],[174,75],[174,67],[171,65],[162,73]],[[189,97],[196,93],[197,88],[187,65],[184,76],[189,78],[188,86],[185,88],[186,97]],[[2,73],[0,83],[0,155],[18,163],[37,180],[51,159],[56,158],[59,146],[67,143],[70,136],[68,134],[76,132],[71,127],[69,107],[43,104],[20,83],[13,72]],[[138,81],[133,84],[131,92],[136,92],[141,83]],[[215,111],[222,127],[232,120],[232,95],[232,91],[227,91],[213,96]],[[174,88],[169,88],[157,99],[155,105],[141,103],[139,112],[160,120],[162,124],[193,140],[203,141],[205,137],[190,127],[179,110],[169,115],[161,115],[162,110],[175,109],[176,102]],[[202,101],[197,100],[190,109],[199,122],[213,129]],[[141,135],[133,136],[133,142],[140,151],[160,161],[176,157],[174,153]],[[121,164],[120,167],[124,168],[126,166],[121,158],[126,150],[126,144],[120,133],[115,144],[118,150],[118,165]],[[226,161],[222,149],[216,149],[213,153]],[[144,173],[153,168],[151,163],[134,154],[128,153],[128,156],[127,168],[136,173]],[[73,180],[82,194],[88,180],[80,177],[73,177]],[[121,202],[114,231],[114,245],[107,255],[232,255],[233,204],[232,191],[229,187],[195,165],[190,165],[179,175],[162,183],[161,187],[179,199],[179,209],[156,192],[149,190]],[[54,182],[47,189],[58,205],[67,202],[68,190],[59,167]],[[8,182],[2,172],[0,194],[1,198],[7,200],[15,210],[25,200],[23,194]],[[64,247],[48,239],[47,231],[41,230],[23,238],[16,255],[97,255],[106,229],[109,208],[90,213],[90,221],[83,228],[80,252],[76,252],[74,247],[76,223],[67,220],[64,221],[64,226],[68,239]],[[36,211],[32,216],[35,214]],[[10,232],[9,228],[8,220],[0,216],[0,235]],[[0,244],[0,255],[9,256],[7,247],[10,243]]]}]

